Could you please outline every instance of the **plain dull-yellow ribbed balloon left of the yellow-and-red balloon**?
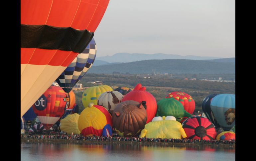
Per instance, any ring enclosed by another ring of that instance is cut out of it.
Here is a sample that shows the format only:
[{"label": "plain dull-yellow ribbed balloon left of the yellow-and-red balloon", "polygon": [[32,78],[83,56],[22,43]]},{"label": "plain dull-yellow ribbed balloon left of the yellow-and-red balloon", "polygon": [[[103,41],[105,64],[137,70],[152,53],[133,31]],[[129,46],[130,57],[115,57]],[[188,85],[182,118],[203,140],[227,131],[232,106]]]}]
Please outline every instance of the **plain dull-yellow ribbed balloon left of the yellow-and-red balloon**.
[{"label": "plain dull-yellow ribbed balloon left of the yellow-and-red balloon", "polygon": [[65,131],[67,134],[80,134],[78,129],[78,114],[67,115],[64,119],[61,120],[60,129],[61,131]]}]

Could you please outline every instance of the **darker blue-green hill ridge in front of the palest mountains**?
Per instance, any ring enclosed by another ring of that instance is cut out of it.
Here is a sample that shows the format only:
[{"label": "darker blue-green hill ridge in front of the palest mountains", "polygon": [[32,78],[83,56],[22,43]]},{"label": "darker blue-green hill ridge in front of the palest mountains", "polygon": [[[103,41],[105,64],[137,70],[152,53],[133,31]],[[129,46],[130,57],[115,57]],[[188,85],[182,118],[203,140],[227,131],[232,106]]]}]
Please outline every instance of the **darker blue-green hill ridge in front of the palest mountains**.
[{"label": "darker blue-green hill ridge in front of the palest mountains", "polygon": [[235,63],[215,62],[203,60],[166,59],[166,60],[142,60],[129,63],[92,66],[88,73],[113,72],[131,74],[173,73],[173,74],[235,74]]}]

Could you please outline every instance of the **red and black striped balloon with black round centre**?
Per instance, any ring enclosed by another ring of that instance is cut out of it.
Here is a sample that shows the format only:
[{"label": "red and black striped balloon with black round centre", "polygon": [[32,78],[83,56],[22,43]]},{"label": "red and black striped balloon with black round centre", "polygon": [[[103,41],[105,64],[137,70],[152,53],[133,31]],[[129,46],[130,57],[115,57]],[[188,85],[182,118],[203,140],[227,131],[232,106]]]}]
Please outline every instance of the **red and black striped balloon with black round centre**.
[{"label": "red and black striped balloon with black round centre", "polygon": [[193,116],[182,123],[188,139],[214,140],[217,132],[214,125],[206,118]]}]

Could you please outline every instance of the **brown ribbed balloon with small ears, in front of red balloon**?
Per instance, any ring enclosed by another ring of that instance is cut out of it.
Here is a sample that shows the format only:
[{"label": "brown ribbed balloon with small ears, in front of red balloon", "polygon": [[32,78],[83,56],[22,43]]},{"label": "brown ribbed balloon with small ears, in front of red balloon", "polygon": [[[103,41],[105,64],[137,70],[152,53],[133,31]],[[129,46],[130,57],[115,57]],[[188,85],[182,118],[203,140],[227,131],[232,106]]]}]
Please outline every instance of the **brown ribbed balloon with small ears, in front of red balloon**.
[{"label": "brown ribbed balloon with small ears, in front of red balloon", "polygon": [[124,101],[112,112],[112,122],[119,136],[133,137],[140,134],[147,121],[147,112],[142,103]]}]

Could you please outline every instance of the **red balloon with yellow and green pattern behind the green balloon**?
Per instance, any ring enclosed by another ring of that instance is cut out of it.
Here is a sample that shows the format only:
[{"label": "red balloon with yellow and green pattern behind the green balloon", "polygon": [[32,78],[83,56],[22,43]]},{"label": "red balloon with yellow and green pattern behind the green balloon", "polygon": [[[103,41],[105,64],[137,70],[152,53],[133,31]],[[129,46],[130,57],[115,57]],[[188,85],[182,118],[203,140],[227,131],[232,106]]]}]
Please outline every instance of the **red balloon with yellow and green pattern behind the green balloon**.
[{"label": "red balloon with yellow and green pattern behind the green balloon", "polygon": [[180,92],[180,91],[171,92],[165,98],[174,98],[175,100],[179,101],[183,105],[184,110],[190,113],[191,115],[195,110],[195,101],[187,93]]}]

